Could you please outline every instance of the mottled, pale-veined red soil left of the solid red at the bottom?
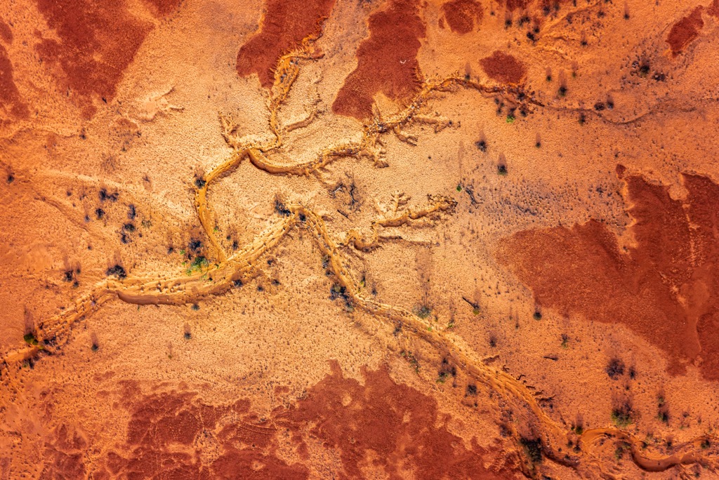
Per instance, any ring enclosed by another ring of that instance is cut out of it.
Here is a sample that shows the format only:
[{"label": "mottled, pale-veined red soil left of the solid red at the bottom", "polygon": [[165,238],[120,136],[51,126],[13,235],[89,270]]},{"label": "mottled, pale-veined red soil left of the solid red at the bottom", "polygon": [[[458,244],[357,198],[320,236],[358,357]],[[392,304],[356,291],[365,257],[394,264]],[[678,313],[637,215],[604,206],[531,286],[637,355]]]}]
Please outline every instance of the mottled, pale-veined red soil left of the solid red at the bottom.
[{"label": "mottled, pale-veined red soil left of the solid red at the bottom", "polygon": [[[151,394],[142,397],[139,387],[129,385],[128,398],[139,402],[127,405],[132,413],[127,427],[127,444],[106,457],[111,474],[132,472],[137,478],[194,479],[305,479],[308,472],[300,465],[288,465],[273,453],[275,429],[257,425],[257,415],[249,412],[249,401],[234,405],[206,405],[192,392]],[[220,426],[226,415],[237,420]],[[211,433],[211,435],[209,435]],[[203,464],[186,451],[196,442],[219,443],[222,452]],[[183,448],[184,447],[184,448]],[[255,471],[253,464],[262,469]]]}]

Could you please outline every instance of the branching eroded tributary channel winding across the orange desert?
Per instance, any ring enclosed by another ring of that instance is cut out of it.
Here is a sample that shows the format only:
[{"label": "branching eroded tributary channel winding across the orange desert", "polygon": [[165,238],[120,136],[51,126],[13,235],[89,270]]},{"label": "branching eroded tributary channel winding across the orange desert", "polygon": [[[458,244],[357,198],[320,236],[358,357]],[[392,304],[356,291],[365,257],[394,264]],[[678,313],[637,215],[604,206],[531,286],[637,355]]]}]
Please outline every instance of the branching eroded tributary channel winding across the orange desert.
[{"label": "branching eroded tributary channel winding across the orange desert", "polygon": [[[315,40],[316,38],[311,37],[304,40],[297,50],[283,56],[278,62],[275,83],[267,100],[273,139],[265,144],[247,143],[235,134],[237,125],[232,119],[227,117],[220,119],[224,139],[233,152],[228,160],[196,181],[195,199],[199,220],[214,249],[214,261],[211,261],[206,268],[193,271],[191,274],[178,273],[176,276],[147,274],[122,278],[109,277],[102,280],[86,295],[75,300],[73,305],[65,308],[62,313],[42,321],[42,326],[34,333],[33,341],[28,345],[7,352],[3,359],[5,370],[2,372],[3,378],[7,379],[12,375],[12,371],[17,371],[23,361],[37,356],[40,351],[52,353],[60,349],[63,343],[68,341],[73,324],[87,318],[111,300],[119,299],[137,305],[183,305],[195,303],[202,298],[221,295],[234,285],[242,285],[256,274],[260,258],[272,250],[288,232],[293,229],[305,229],[311,233],[321,254],[325,259],[329,259],[326,262],[328,268],[336,277],[336,282],[344,288],[345,295],[354,307],[362,308],[376,318],[385,320],[395,329],[399,328],[403,335],[420,338],[441,357],[462,370],[472,381],[497,392],[503,399],[504,407],[511,410],[514,417],[524,418],[532,425],[536,438],[541,444],[542,453],[552,461],[569,466],[580,475],[599,474],[611,477],[613,474],[603,469],[603,462],[597,453],[603,443],[611,441],[631,450],[633,461],[646,471],[664,471],[673,466],[691,463],[701,463],[706,468],[715,469],[717,461],[713,448],[705,448],[709,440],[712,440],[711,444],[716,443],[715,435],[674,446],[674,453],[669,456],[653,452],[652,447],[647,446],[640,438],[619,428],[595,428],[577,435],[568,425],[552,419],[542,409],[535,391],[507,372],[485,364],[465,345],[462,338],[452,331],[437,328],[436,324],[430,325],[409,310],[379,303],[366,295],[361,282],[357,282],[349,271],[343,251],[352,248],[363,251],[374,249],[381,241],[385,241],[379,234],[380,229],[385,227],[411,225],[413,221],[421,218],[451,215],[456,206],[452,198],[429,196],[428,203],[421,208],[395,208],[394,213],[372,222],[372,236],[369,239],[352,230],[342,240],[334,239],[327,231],[321,216],[310,208],[301,204],[287,204],[283,206],[282,215],[276,223],[258,234],[244,248],[231,255],[226,254],[215,236],[208,193],[216,180],[231,175],[242,160],[249,160],[255,167],[270,175],[321,177],[321,170],[326,165],[342,157],[368,158],[373,160],[375,165],[382,167],[386,163],[381,149],[381,137],[385,134],[395,134],[401,141],[413,144],[415,139],[403,133],[403,126],[421,122],[433,124],[435,131],[446,128],[451,123],[447,119],[421,114],[421,110],[436,93],[451,92],[459,88],[467,88],[487,96],[504,96],[508,101],[526,109],[543,106],[519,88],[485,86],[475,80],[453,76],[439,83],[425,83],[409,106],[399,114],[389,119],[374,119],[370,124],[365,125],[359,142],[349,142],[325,149],[311,162],[278,164],[270,160],[267,154],[282,145],[283,134],[286,131],[303,128],[313,119],[311,115],[307,121],[281,126],[278,112],[298,76],[301,62],[312,60],[317,56],[314,51]],[[516,431],[513,434],[519,445],[521,438]]]}]

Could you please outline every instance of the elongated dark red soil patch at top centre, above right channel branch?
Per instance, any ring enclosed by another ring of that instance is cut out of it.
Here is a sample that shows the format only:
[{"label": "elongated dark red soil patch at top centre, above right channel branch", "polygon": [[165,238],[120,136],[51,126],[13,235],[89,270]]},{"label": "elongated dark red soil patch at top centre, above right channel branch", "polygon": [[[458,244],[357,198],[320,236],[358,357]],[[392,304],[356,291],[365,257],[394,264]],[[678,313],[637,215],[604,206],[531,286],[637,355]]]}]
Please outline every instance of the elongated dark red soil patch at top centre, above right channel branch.
[{"label": "elongated dark red soil patch at top centre, above right channel branch", "polygon": [[357,68],[344,80],[332,104],[335,114],[367,119],[375,93],[395,101],[411,98],[420,86],[419,39],[425,25],[416,0],[393,0],[369,19],[370,37],[357,49]]}]

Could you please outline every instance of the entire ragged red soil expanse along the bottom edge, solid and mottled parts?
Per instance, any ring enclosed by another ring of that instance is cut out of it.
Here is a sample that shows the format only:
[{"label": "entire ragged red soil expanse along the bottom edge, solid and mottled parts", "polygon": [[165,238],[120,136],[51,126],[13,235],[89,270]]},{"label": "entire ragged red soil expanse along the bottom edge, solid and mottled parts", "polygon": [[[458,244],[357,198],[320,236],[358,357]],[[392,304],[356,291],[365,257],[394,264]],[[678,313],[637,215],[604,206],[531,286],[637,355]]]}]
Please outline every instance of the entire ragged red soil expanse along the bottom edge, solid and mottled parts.
[{"label": "entire ragged red soil expanse along the bottom edge, solid and mottled parts", "polygon": [[[306,479],[303,461],[310,454],[303,433],[336,451],[344,469],[341,478],[363,478],[368,465],[391,479],[410,471],[427,479],[514,478],[505,466],[486,467],[486,451],[474,442],[468,450],[446,430],[446,419],[438,422],[436,400],[395,384],[386,369],[365,371],[362,385],[342,377],[336,362],[331,368],[306,398],[278,408],[267,421],[250,410],[249,400],[206,405],[193,392],[143,395],[136,383],[127,382],[124,397],[139,399],[125,405],[131,412],[127,443],[107,454],[94,478],[124,472],[129,478]],[[296,463],[277,456],[285,438]],[[223,453],[201,462],[195,448],[212,445]],[[89,448],[81,433],[58,428],[55,440],[45,446],[50,463],[44,476],[85,476],[83,454]]]}]

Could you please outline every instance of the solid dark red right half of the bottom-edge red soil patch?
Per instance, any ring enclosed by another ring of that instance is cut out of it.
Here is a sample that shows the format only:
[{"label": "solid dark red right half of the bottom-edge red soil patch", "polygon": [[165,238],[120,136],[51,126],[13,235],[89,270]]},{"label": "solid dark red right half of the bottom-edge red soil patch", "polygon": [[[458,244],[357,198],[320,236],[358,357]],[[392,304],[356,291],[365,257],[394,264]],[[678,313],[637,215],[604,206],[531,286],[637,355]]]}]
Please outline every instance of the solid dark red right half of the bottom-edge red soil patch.
[{"label": "solid dark red right half of the bottom-edge red soil patch", "polygon": [[485,468],[481,448],[467,450],[461,438],[437,426],[433,398],[395,384],[385,370],[365,371],[364,386],[342,378],[336,362],[332,370],[287,418],[290,425],[314,424],[310,434],[339,450],[349,478],[363,477],[367,450],[375,453],[373,466],[393,479],[406,471],[423,479],[503,478]]}]

